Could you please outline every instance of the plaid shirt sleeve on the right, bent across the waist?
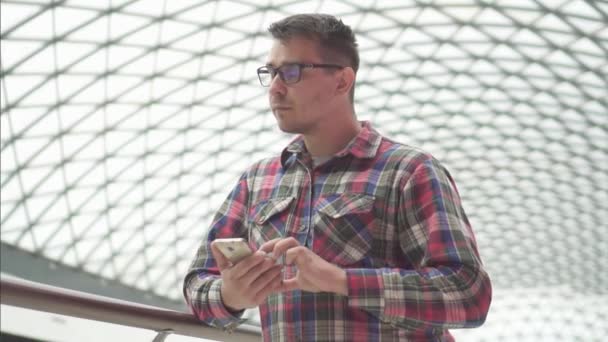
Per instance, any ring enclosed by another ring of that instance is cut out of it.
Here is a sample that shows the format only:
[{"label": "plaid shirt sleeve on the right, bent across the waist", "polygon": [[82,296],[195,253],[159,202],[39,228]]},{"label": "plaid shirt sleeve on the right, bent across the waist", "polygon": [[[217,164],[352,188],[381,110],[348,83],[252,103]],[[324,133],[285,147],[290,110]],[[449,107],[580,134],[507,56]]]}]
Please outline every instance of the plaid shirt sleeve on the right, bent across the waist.
[{"label": "plaid shirt sleeve on the right, bent across the waist", "polygon": [[399,243],[413,269],[347,269],[348,301],[405,328],[483,324],[492,288],[448,171],[419,163],[401,186]]}]

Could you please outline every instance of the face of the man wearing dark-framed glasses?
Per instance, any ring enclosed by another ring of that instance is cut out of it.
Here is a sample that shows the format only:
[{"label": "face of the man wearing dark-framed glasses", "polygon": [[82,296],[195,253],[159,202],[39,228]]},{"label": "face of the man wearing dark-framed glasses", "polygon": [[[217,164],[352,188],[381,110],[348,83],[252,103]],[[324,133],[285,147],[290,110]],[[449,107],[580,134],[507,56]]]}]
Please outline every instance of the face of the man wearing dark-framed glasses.
[{"label": "face of the man wearing dark-framed glasses", "polygon": [[[275,40],[267,65],[274,68],[290,63],[324,63],[315,41],[291,38]],[[268,90],[268,100],[279,128],[288,133],[313,134],[331,114],[336,79],[334,72],[326,69],[301,69],[301,79],[285,84],[276,75]]]}]

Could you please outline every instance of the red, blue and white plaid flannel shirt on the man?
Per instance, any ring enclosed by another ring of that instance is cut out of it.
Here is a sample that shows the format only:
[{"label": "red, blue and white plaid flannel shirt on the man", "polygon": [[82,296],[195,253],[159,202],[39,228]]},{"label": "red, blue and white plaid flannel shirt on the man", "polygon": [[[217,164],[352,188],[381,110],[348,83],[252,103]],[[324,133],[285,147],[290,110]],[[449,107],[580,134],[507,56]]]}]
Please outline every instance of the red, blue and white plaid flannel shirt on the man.
[{"label": "red, blue and white plaid flannel shirt on the man", "polygon": [[269,296],[259,307],[265,341],[452,341],[449,328],[481,325],[490,306],[490,279],[448,171],[367,122],[316,167],[296,138],[253,165],[221,206],[184,296],[200,320],[233,329],[243,320],[222,303],[209,249],[227,237],[257,246],[294,237],[347,273],[348,296]]}]

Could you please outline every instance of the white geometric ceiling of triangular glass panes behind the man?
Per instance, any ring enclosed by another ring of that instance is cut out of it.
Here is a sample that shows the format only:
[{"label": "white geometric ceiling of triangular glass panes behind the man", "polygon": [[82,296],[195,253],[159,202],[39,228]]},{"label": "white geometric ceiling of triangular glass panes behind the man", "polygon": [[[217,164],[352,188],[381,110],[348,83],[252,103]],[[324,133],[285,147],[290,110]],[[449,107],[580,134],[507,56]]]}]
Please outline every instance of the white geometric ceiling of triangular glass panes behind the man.
[{"label": "white geometric ceiling of triangular glass panes behind the man", "polygon": [[290,139],[255,72],[266,28],[323,12],[357,35],[358,118],[456,180],[494,298],[484,326],[454,335],[608,336],[605,1],[1,6],[2,272],[64,270],[76,288],[183,307],[212,215]]}]

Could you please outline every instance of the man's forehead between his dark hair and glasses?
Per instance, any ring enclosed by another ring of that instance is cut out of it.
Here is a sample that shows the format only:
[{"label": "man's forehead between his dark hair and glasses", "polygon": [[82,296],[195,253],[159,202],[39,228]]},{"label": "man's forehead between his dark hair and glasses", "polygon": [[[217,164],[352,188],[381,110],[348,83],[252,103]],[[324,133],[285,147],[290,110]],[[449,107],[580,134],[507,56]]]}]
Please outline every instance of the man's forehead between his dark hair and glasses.
[{"label": "man's forehead between his dark hair and glasses", "polygon": [[314,63],[319,61],[321,61],[321,57],[316,41],[293,37],[285,41],[274,41],[268,55],[267,64],[279,66],[285,63]]}]

